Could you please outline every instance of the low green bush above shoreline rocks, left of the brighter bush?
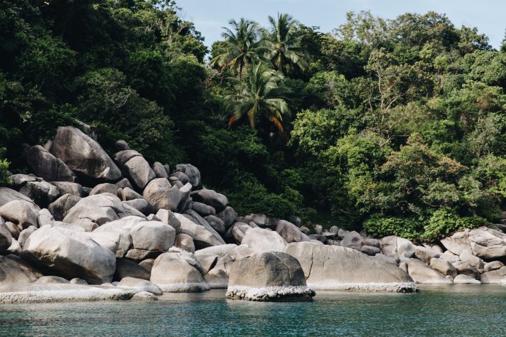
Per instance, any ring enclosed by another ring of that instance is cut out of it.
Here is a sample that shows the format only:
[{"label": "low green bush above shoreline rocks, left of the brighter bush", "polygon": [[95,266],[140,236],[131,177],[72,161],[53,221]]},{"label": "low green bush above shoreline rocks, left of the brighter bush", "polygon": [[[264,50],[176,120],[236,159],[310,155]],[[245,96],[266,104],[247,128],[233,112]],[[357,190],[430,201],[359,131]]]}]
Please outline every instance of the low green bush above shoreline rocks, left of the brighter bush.
[{"label": "low green bush above shoreline rocks, left of the brighter bush", "polygon": [[373,216],[364,222],[364,230],[373,237],[397,235],[415,239],[418,236],[417,229],[417,221],[408,218]]}]

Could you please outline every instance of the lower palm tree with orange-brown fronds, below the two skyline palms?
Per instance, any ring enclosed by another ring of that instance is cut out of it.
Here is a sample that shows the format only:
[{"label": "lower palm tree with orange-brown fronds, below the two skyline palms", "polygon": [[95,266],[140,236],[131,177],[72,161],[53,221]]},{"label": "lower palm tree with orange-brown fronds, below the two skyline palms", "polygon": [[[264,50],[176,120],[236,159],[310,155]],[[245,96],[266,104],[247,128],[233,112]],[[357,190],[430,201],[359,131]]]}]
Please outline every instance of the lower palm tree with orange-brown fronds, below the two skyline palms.
[{"label": "lower palm tree with orange-brown fronds, below the two skyline palms", "polygon": [[287,88],[278,85],[283,74],[271,69],[265,63],[253,61],[245,80],[236,80],[237,94],[227,96],[228,107],[232,109],[229,127],[237,120],[248,118],[251,127],[263,116],[281,132],[281,121],[290,113],[287,102],[280,96]]}]

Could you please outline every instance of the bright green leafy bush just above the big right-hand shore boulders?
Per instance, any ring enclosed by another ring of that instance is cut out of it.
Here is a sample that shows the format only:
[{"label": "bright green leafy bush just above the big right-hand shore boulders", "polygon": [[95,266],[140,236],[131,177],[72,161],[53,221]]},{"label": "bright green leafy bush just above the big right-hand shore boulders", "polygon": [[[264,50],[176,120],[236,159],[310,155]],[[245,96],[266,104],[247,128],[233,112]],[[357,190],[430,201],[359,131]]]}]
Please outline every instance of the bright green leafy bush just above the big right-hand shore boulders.
[{"label": "bright green leafy bush just above the big right-hand shore boulders", "polygon": [[437,210],[430,217],[428,224],[423,228],[422,239],[436,241],[464,228],[477,228],[489,225],[482,217],[460,217],[451,210]]}]

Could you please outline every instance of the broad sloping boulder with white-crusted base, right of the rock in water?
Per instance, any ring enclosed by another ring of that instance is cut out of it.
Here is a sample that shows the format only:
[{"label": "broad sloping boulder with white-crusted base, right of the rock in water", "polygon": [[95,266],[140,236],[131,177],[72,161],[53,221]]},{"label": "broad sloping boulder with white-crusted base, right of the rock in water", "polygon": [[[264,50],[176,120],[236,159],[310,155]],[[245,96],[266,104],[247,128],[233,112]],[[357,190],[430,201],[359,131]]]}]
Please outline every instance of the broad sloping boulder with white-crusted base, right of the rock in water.
[{"label": "broad sloping boulder with white-crusted base, right of the rock in water", "polygon": [[412,292],[417,287],[404,270],[382,259],[340,246],[289,243],[285,252],[298,259],[307,285],[316,290]]}]

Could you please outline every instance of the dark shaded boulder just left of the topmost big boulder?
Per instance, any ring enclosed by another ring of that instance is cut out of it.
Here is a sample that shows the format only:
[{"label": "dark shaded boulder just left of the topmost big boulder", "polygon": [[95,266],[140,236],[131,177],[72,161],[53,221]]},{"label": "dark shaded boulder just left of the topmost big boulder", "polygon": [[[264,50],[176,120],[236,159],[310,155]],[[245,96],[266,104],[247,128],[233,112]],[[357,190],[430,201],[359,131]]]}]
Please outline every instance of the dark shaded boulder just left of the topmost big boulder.
[{"label": "dark shaded boulder just left of the topmost big boulder", "polygon": [[76,182],[76,174],[60,159],[40,145],[30,146],[26,153],[26,162],[32,172],[48,182]]}]

